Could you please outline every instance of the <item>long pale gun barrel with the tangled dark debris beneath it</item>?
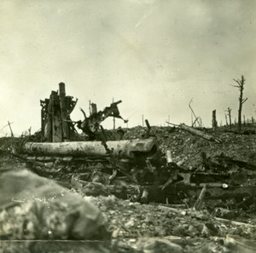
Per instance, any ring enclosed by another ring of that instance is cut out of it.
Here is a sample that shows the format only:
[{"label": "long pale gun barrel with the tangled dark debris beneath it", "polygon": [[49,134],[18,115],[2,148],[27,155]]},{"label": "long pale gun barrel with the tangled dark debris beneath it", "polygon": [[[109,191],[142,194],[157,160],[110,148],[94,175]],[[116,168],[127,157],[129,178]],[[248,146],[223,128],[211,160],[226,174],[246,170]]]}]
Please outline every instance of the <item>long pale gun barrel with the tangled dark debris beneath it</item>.
[{"label": "long pale gun barrel with the tangled dark debris beneath it", "polygon": [[[102,183],[110,193],[137,201],[178,203],[197,198],[253,196],[255,187],[241,187],[229,172],[189,171],[172,162],[170,151],[160,152],[154,137],[123,141],[25,142],[22,156],[35,164],[37,173],[69,175],[80,189],[89,181]],[[60,169],[61,168],[61,169]],[[244,182],[247,177],[244,178]]]}]

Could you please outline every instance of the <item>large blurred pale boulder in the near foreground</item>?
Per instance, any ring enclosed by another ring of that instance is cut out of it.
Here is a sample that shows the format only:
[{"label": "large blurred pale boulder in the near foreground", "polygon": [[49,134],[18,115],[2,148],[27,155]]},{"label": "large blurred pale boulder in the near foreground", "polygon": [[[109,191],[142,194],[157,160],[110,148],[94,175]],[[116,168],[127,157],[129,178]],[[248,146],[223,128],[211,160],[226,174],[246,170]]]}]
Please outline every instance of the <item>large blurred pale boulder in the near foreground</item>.
[{"label": "large blurred pale boulder in the near foreground", "polygon": [[100,210],[28,170],[0,175],[1,239],[109,238]]}]

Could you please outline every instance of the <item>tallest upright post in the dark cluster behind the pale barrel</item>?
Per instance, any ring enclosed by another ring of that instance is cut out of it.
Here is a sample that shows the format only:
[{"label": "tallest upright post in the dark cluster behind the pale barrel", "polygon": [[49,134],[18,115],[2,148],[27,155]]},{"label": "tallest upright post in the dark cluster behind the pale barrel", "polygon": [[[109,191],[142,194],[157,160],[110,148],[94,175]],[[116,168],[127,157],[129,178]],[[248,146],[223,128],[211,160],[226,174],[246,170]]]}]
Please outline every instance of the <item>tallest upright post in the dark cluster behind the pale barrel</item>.
[{"label": "tallest upright post in the dark cluster behind the pale barrel", "polygon": [[59,83],[59,99],[61,107],[61,141],[67,140],[69,138],[69,129],[67,125],[67,106],[66,106],[66,90],[65,83]]}]

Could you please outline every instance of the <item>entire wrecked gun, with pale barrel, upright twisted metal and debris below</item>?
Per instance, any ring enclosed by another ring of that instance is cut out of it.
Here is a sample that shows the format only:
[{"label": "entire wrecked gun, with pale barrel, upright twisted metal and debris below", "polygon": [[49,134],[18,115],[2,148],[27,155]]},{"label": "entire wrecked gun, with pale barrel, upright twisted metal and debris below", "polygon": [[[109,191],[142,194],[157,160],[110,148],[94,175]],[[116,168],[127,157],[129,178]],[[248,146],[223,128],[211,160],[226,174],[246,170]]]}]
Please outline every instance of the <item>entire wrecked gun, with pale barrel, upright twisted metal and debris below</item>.
[{"label": "entire wrecked gun, with pale barrel, upright twisted metal and debris below", "polygon": [[[230,179],[227,168],[218,173],[186,170],[182,163],[172,162],[170,150],[160,151],[156,138],[150,135],[148,120],[141,139],[122,140],[122,129],[111,135],[101,123],[108,117],[123,119],[119,115],[120,102],[114,102],[100,112],[92,103],[90,116],[86,117],[81,109],[84,120],[73,122],[70,114],[77,100],[67,96],[65,84],[60,83],[59,92],[52,91],[49,99],[40,101],[39,140],[34,137],[36,141],[31,141],[32,138],[23,141],[20,156],[32,163],[46,165],[41,169],[45,172],[49,164],[51,171],[55,164],[67,165],[66,172],[72,175],[73,186],[83,187],[87,181],[101,182],[119,197],[130,196],[143,202],[166,202],[169,199],[177,203],[183,198],[201,198],[202,195],[207,198],[253,196],[255,187],[245,185],[247,178],[255,177],[255,166],[246,168],[247,176],[239,183]],[[78,134],[75,126],[82,129],[83,135]],[[183,124],[182,127],[189,130],[189,126]],[[196,134],[195,129],[190,130]],[[207,140],[216,141],[211,136],[207,136]],[[241,168],[244,169],[244,164]]]}]

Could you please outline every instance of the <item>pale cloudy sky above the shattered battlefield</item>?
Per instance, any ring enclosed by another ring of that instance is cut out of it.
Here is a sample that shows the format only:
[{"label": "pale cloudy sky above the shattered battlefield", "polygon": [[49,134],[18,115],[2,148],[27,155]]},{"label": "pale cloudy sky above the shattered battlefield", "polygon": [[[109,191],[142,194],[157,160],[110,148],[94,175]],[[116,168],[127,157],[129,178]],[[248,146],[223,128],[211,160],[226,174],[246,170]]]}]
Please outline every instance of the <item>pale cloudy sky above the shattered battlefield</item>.
[{"label": "pale cloudy sky above the shattered battlefield", "polygon": [[73,120],[121,100],[129,127],[190,124],[192,100],[209,127],[214,109],[237,118],[244,75],[242,114],[256,118],[255,12],[253,0],[2,0],[0,136],[8,121],[15,135],[40,129],[39,101],[61,82],[79,99]]}]

